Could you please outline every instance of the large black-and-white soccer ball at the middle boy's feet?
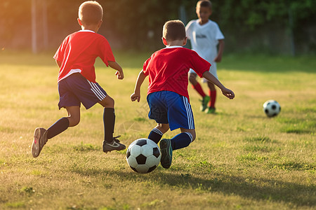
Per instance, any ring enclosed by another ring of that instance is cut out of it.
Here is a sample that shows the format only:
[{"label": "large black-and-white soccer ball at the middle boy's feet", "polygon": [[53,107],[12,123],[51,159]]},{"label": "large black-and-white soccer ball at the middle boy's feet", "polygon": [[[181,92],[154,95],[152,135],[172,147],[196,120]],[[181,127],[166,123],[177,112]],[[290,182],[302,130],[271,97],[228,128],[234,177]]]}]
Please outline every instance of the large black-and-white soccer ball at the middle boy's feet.
[{"label": "large black-and-white soccer ball at the middle boy's feet", "polygon": [[130,144],[126,152],[126,160],[135,172],[145,174],[152,172],[160,162],[162,153],[154,141],[137,139]]}]

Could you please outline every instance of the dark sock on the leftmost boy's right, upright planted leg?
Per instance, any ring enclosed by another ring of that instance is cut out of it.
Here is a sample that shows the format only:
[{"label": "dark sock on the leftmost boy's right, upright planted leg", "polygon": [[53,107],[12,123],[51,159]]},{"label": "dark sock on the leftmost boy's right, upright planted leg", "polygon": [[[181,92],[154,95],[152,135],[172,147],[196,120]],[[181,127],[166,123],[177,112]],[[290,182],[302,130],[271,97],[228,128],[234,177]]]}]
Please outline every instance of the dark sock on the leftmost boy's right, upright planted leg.
[{"label": "dark sock on the leftmost boy's right, upright planted leg", "polygon": [[105,108],[103,111],[103,124],[104,124],[104,140],[107,142],[113,141],[115,113],[113,108]]}]

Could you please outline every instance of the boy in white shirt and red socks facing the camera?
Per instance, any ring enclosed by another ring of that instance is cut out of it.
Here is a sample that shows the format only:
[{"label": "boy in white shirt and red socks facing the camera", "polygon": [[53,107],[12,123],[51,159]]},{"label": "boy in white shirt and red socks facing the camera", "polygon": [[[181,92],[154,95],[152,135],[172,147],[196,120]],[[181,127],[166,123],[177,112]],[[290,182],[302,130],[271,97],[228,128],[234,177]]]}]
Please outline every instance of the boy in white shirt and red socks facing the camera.
[{"label": "boy in white shirt and red socks facing the camera", "polygon": [[[220,62],[224,49],[224,36],[216,22],[209,20],[212,13],[212,4],[209,0],[197,2],[196,8],[198,20],[191,20],[185,27],[187,38],[190,39],[192,50],[195,50],[199,56],[211,63],[210,73],[218,78],[216,73],[216,62]],[[217,50],[218,45],[218,50]],[[215,113],[216,89],[213,83],[207,82],[209,86],[209,96],[202,90],[197,82],[197,73],[190,69],[190,83],[192,87],[202,96],[201,111],[206,113]]]}]

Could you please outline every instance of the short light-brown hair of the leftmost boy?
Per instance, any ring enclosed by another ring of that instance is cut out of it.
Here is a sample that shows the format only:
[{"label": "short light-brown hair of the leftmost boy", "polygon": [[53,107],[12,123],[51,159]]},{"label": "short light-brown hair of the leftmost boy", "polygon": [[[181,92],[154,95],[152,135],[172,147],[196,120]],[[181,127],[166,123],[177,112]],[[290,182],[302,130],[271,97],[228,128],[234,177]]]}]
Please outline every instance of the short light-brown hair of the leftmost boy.
[{"label": "short light-brown hair of the leftmost boy", "polygon": [[86,25],[96,25],[103,18],[103,8],[97,1],[85,1],[79,6],[78,17]]}]

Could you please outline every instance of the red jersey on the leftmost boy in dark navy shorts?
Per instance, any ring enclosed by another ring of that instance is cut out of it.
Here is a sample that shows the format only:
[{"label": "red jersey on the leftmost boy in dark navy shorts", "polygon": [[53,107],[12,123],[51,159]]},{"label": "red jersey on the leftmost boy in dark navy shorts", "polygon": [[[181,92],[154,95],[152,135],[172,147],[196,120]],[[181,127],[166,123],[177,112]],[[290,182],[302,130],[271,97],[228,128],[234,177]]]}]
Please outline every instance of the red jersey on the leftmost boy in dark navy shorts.
[{"label": "red jersey on the leftmost boy in dark navy shorts", "polygon": [[108,66],[115,62],[114,55],[107,39],[90,30],[81,30],[67,36],[54,55],[60,61],[58,82],[69,76],[71,70],[80,72],[87,80],[96,83],[94,63],[100,57]]}]

